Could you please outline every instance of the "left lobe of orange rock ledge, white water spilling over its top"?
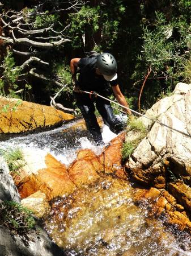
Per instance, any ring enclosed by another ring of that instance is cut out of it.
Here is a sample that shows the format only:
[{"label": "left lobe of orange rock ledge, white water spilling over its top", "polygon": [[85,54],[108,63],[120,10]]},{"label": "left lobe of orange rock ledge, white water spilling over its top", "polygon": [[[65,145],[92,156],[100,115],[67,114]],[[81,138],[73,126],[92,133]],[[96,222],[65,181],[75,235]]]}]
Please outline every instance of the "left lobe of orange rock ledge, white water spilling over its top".
[{"label": "left lobe of orange rock ledge, white water spilling over its top", "polygon": [[[30,162],[30,159],[34,159],[36,162],[34,153],[33,158],[30,157],[26,160],[27,165],[21,168],[20,176],[23,179],[19,182],[17,180],[20,196],[25,198],[32,193],[41,191],[50,200],[56,196],[68,195],[73,192],[75,184],[71,181],[65,165],[58,162],[52,155],[47,154],[41,157],[39,168],[38,163],[33,165],[33,162]],[[41,168],[42,164],[44,164],[44,168]]]}]

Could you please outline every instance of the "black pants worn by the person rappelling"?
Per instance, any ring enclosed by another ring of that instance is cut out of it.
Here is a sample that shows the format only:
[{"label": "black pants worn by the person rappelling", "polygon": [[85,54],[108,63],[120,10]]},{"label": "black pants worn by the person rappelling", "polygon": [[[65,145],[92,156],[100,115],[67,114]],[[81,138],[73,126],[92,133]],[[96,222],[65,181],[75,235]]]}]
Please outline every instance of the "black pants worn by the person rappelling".
[{"label": "black pants worn by the person rappelling", "polygon": [[[104,100],[103,98],[96,97],[95,100],[92,100],[88,94],[85,93],[74,93],[74,96],[77,100],[77,106],[80,109],[84,120],[86,121],[86,127],[88,131],[90,131],[94,141],[96,143],[102,142],[101,130],[100,126],[97,123],[97,119],[95,116],[95,106],[105,125],[109,126],[109,129],[113,131],[113,133],[119,133],[122,129],[124,129],[124,122],[120,121],[114,114],[113,109],[109,101]],[[104,96],[104,95],[103,95]]]}]

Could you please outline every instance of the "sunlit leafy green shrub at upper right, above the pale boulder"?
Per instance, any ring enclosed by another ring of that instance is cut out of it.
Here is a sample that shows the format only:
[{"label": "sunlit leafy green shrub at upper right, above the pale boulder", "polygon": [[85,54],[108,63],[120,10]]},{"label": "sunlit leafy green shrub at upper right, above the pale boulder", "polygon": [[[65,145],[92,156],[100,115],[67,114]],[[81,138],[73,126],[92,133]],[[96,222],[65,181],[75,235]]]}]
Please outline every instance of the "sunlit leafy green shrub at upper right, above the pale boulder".
[{"label": "sunlit leafy green shrub at upper right, above the pale boulder", "polygon": [[[151,68],[153,75],[157,76],[162,73],[165,65],[169,65],[173,59],[173,51],[175,46],[169,40],[172,35],[173,24],[165,24],[166,19],[162,13],[156,12],[156,20],[154,30],[150,30],[148,26],[142,26],[143,44],[142,53],[138,56],[137,68],[141,73],[134,73],[142,79],[147,73],[147,69]],[[164,71],[165,72],[165,71]]]}]

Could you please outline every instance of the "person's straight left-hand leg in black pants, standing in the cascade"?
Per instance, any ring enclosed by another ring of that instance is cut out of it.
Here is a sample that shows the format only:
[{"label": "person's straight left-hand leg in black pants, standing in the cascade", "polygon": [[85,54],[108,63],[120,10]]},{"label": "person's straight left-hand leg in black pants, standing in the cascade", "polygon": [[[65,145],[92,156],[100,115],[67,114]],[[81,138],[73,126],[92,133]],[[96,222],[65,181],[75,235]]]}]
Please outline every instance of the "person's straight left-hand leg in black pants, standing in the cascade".
[{"label": "person's straight left-hand leg in black pants, standing in the cascade", "polygon": [[92,101],[88,97],[88,95],[80,93],[75,93],[75,98],[77,100],[77,106],[80,109],[80,112],[82,113],[83,118],[86,122],[87,130],[90,131],[90,134],[92,135],[96,143],[103,142],[100,126],[97,123],[97,118],[94,114],[94,101]]}]

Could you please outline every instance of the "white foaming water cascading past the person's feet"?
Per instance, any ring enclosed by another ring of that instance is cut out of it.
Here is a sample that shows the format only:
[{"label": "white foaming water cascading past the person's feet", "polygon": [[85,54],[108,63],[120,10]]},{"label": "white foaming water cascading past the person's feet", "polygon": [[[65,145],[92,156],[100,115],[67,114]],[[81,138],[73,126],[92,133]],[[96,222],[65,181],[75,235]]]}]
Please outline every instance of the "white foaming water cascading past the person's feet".
[{"label": "white foaming water cascading past the person's feet", "polygon": [[[23,152],[27,151],[31,155],[33,155],[35,158],[44,158],[44,156],[48,153],[54,156],[58,161],[60,161],[63,164],[66,164],[66,166],[69,166],[70,163],[72,163],[77,158],[77,152],[80,149],[88,148],[95,152],[96,155],[100,155],[103,151],[103,147],[105,145],[96,146],[95,143],[91,142],[87,137],[81,137],[77,139],[77,142],[79,146],[77,147],[65,147],[62,146],[62,148],[57,150],[57,148],[54,148],[54,146],[57,147],[57,145],[60,143],[59,141],[53,141],[49,142],[51,139],[49,137],[49,134],[53,134],[54,131],[57,133],[60,131],[61,128],[54,129],[52,131],[46,131],[41,134],[46,134],[46,137],[42,138],[41,135],[38,134],[31,134],[24,137],[17,137],[10,139],[9,141],[0,142],[0,147],[6,149],[7,147],[16,148],[19,147],[22,149]],[[113,138],[115,138],[117,135],[112,133],[112,131],[109,129],[107,125],[103,126],[102,131],[103,141],[105,144],[107,144],[109,141],[111,141]],[[41,140],[41,146],[39,146],[39,143],[37,140]],[[34,142],[32,142],[32,140]]]}]

